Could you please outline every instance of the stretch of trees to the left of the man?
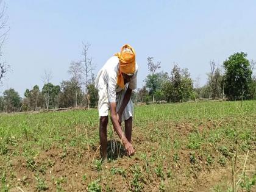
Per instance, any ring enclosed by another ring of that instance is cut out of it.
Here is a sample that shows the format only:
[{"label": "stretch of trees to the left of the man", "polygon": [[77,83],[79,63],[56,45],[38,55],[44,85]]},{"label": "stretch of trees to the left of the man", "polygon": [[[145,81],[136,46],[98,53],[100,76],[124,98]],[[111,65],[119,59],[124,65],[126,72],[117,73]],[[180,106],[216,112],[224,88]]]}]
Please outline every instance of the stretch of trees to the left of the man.
[{"label": "stretch of trees to the left of the man", "polygon": [[[98,91],[94,87],[93,59],[89,57],[91,44],[82,42],[82,60],[71,62],[68,68],[70,79],[62,80],[60,85],[52,84],[51,71],[44,71],[41,78],[43,87],[38,85],[27,88],[24,98],[13,88],[5,90],[0,96],[0,112],[26,112],[41,109],[68,107],[95,107],[98,101]],[[1,80],[1,79],[0,79]]]}]

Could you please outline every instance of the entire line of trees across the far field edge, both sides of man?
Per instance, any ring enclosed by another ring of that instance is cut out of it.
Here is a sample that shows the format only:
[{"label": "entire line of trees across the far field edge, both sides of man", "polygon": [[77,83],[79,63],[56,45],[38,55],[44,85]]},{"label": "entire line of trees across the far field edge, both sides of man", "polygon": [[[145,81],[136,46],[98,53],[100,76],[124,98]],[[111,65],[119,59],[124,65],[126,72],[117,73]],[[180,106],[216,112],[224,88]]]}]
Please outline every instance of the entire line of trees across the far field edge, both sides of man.
[{"label": "entire line of trees across the far field edge, both sides of man", "polygon": [[[5,90],[0,97],[0,112],[26,112],[32,110],[96,107],[98,91],[94,86],[93,60],[88,56],[90,44],[82,43],[83,59],[71,62],[68,73],[69,80],[60,85],[51,83],[52,74],[44,71],[44,85],[35,85],[24,91],[24,98],[13,88]],[[144,79],[142,88],[132,94],[135,102],[186,102],[199,98],[227,99],[230,101],[256,98],[256,77],[253,76],[255,62],[247,60],[247,54],[237,52],[223,62],[222,68],[210,61],[207,84],[200,87],[193,80],[187,68],[180,68],[174,63],[171,71],[159,71],[160,62],[148,57],[149,74]]]}]

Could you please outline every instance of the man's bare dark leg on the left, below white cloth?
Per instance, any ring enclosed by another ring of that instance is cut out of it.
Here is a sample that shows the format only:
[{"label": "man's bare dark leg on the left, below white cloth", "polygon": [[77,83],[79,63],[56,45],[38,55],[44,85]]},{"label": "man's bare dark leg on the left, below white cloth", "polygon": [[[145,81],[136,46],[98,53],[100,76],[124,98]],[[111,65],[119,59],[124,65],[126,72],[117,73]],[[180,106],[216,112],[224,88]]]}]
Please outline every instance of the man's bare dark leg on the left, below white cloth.
[{"label": "man's bare dark leg on the left, below white cloth", "polygon": [[107,160],[107,123],[108,116],[101,116],[99,119],[99,139],[101,141],[103,160]]}]

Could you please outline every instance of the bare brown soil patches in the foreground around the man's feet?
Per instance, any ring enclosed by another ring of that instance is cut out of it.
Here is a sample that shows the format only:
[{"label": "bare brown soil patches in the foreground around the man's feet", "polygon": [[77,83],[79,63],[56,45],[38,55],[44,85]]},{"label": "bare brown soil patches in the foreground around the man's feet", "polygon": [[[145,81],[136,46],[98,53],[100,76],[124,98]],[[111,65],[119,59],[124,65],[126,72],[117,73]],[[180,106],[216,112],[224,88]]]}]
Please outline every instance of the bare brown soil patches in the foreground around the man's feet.
[{"label": "bare brown soil patches in the foreground around the man's feet", "polygon": [[[170,135],[172,132],[176,132],[180,135],[180,139],[187,138],[188,134],[194,130],[202,132],[205,129],[216,129],[220,124],[225,121],[207,121],[206,123],[198,123],[198,126],[194,126],[193,123],[168,123],[170,127]],[[158,127],[166,126],[167,123],[157,124]],[[152,125],[149,126],[148,133],[143,130],[138,130],[133,135],[133,143],[135,150],[144,152],[147,158],[153,157],[153,152],[160,148],[157,140],[150,140],[149,134],[152,133]],[[137,130],[135,127],[134,130]],[[173,136],[172,136],[173,137]],[[171,138],[173,140],[173,138]],[[207,146],[202,146],[207,148]],[[110,142],[108,143],[108,152],[111,154]],[[154,167],[157,167],[154,163],[146,165],[142,157],[135,155],[134,157],[127,157],[124,155],[124,149],[121,148],[119,158],[117,158],[118,150],[115,154],[112,154],[111,162],[102,163],[102,170],[98,171],[93,161],[99,160],[98,146],[90,146],[88,151],[82,148],[71,148],[68,147],[66,151],[52,146],[47,151],[41,151],[35,160],[35,170],[39,171],[38,176],[43,178],[47,185],[48,191],[56,191],[57,187],[61,187],[65,191],[87,191],[88,183],[101,177],[102,189],[112,188],[115,191],[128,191],[131,190],[131,180],[133,179],[133,173],[131,168],[133,165],[140,165],[144,180],[141,181],[143,185],[143,191],[159,191],[158,186],[161,183],[161,179],[155,174]],[[231,186],[231,166],[230,162],[227,162],[226,167],[220,165],[208,166],[205,157],[199,152],[196,152],[197,164],[190,162],[191,150],[188,150],[186,146],[181,146],[179,150],[179,162],[175,163],[172,160],[173,151],[171,154],[160,154],[165,155],[166,159],[163,162],[163,172],[165,179],[162,181],[166,186],[166,191],[210,191],[215,187],[216,184],[224,182]],[[213,154],[216,152],[213,151]],[[161,156],[161,157],[162,157]],[[251,164],[249,166],[255,169],[255,153],[250,158]],[[215,157],[213,157],[215,158]],[[156,161],[155,161],[156,162]],[[1,166],[6,166],[0,161]],[[37,171],[27,167],[27,159],[21,156],[10,156],[10,163],[12,164],[11,172],[7,172],[7,178],[12,178],[13,187],[10,191],[37,191],[37,180],[35,175]],[[243,162],[240,162],[240,164]],[[45,167],[45,172],[41,171],[42,167]],[[149,166],[151,174],[146,174],[146,167]],[[122,168],[126,170],[126,177],[120,174],[114,176],[110,173],[111,168]],[[238,166],[239,167],[239,166]],[[171,169],[171,178],[168,178],[166,172],[168,168]],[[86,176],[86,179],[83,179]],[[59,181],[58,181],[59,180]]]}]

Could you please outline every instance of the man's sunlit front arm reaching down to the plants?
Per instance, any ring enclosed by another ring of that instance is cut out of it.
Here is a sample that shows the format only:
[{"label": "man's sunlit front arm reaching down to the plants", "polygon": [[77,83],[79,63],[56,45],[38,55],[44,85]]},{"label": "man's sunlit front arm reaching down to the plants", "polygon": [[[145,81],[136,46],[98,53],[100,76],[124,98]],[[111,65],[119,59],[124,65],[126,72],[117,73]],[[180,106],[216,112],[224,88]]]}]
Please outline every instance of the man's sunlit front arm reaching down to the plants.
[{"label": "man's sunlit front arm reaching down to the plants", "polygon": [[129,141],[127,140],[126,135],[124,134],[124,132],[119,124],[119,121],[118,121],[119,119],[116,116],[116,103],[115,102],[110,102],[110,115],[111,115],[111,121],[115,128],[115,131],[116,131],[116,133],[118,133],[119,138],[123,142],[124,148],[126,148],[127,154],[132,155],[134,153],[134,149],[133,149],[132,144],[130,144]]}]

